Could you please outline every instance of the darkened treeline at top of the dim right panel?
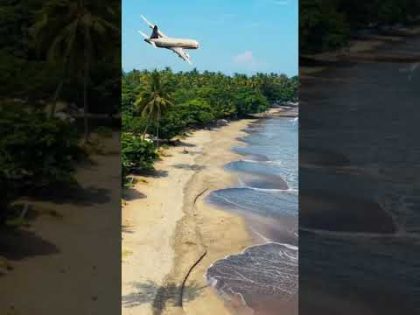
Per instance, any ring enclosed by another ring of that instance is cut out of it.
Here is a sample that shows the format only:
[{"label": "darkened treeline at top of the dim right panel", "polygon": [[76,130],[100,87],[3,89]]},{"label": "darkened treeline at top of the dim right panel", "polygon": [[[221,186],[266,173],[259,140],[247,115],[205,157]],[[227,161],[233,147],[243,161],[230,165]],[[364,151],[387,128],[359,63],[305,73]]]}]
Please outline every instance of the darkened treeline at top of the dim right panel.
[{"label": "darkened treeline at top of the dim right panel", "polygon": [[301,0],[300,52],[340,48],[360,30],[409,24],[419,14],[418,0]]}]

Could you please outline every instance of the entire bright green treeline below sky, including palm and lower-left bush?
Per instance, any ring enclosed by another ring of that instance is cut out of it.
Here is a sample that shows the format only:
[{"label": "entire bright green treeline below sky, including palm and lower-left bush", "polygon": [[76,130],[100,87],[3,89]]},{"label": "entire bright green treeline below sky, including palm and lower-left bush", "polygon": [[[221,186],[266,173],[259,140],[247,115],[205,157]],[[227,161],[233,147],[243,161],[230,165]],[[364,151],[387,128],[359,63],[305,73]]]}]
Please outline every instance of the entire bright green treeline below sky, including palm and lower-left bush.
[{"label": "entire bright green treeline below sky, including palm and lower-left bush", "polygon": [[[123,73],[123,174],[153,169],[156,147],[192,128],[214,125],[296,101],[298,78],[246,76],[197,70]],[[154,141],[153,141],[154,140]]]}]

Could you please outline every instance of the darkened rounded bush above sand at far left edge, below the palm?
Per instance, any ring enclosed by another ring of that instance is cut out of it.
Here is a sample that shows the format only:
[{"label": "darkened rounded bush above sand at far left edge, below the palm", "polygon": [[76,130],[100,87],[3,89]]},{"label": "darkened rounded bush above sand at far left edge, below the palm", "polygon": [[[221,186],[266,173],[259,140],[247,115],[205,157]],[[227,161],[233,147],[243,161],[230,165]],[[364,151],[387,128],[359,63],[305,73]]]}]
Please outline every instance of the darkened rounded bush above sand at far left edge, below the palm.
[{"label": "darkened rounded bush above sand at far left edge, below the palm", "polygon": [[0,134],[1,222],[17,196],[73,182],[74,162],[81,149],[71,124],[16,106],[0,108]]}]

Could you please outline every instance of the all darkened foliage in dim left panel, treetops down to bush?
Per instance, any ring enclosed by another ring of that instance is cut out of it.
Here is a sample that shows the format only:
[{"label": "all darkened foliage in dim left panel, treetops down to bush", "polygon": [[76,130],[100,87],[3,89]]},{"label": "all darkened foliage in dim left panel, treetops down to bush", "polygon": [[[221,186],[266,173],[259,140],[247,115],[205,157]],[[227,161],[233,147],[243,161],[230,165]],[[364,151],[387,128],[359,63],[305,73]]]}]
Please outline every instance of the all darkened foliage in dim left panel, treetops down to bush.
[{"label": "all darkened foliage in dim left panel, treetops down to bush", "polygon": [[2,1],[1,220],[22,195],[72,181],[80,125],[55,118],[54,106],[47,115],[47,105],[84,108],[85,122],[118,110],[119,10],[116,0]]}]

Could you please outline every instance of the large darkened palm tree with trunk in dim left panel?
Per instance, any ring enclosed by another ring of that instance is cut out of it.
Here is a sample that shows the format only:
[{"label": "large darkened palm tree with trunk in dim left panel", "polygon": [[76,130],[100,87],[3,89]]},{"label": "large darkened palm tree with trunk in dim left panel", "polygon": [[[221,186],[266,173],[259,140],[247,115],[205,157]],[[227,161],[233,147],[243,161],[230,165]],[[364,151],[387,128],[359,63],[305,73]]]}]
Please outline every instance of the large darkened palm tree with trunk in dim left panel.
[{"label": "large darkened palm tree with trunk in dim left panel", "polygon": [[39,51],[63,69],[51,115],[55,113],[65,79],[73,76],[82,79],[85,140],[89,135],[87,94],[91,64],[98,51],[111,42],[110,36],[119,32],[113,23],[117,20],[115,15],[111,6],[99,0],[49,0],[32,28]]}]

